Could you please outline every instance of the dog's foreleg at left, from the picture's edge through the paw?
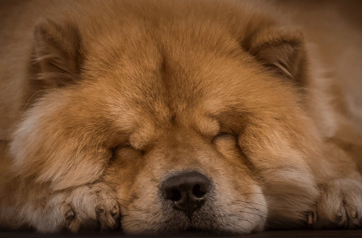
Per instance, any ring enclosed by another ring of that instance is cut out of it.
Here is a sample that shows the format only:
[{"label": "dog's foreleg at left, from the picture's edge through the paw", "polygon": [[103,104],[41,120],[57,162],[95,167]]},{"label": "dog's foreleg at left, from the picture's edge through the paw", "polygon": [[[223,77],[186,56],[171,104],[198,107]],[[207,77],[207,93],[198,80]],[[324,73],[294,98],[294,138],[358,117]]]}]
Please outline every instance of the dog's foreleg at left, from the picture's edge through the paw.
[{"label": "dog's foreleg at left, from the picture's edge through the paw", "polygon": [[29,189],[31,185],[20,179],[10,181],[10,186],[13,189],[1,196],[0,207],[1,224],[7,228],[28,226],[40,233],[67,229],[76,233],[89,225],[100,226],[101,231],[119,225],[119,203],[114,191],[104,183],[57,192],[51,192],[46,186]]}]

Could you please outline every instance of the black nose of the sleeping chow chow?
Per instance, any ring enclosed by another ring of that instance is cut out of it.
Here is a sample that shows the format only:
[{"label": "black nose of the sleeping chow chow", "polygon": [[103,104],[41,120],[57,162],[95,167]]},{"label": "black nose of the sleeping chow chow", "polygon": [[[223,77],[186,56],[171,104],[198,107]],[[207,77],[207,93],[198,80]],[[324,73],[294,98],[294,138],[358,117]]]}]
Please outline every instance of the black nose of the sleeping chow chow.
[{"label": "black nose of the sleeping chow chow", "polygon": [[167,178],[161,186],[165,199],[172,200],[174,209],[183,211],[191,218],[202,207],[209,191],[210,180],[195,171],[186,171]]}]

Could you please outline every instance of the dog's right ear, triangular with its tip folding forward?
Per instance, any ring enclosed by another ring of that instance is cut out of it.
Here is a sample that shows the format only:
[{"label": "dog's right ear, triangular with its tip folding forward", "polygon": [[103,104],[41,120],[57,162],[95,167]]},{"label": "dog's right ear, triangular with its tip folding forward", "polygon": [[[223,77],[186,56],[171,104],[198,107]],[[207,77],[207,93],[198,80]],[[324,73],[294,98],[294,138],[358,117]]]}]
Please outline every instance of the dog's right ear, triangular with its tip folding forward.
[{"label": "dog's right ear, triangular with its tip folding forward", "polygon": [[307,60],[300,31],[267,27],[249,38],[245,46],[248,52],[273,72],[304,84]]}]

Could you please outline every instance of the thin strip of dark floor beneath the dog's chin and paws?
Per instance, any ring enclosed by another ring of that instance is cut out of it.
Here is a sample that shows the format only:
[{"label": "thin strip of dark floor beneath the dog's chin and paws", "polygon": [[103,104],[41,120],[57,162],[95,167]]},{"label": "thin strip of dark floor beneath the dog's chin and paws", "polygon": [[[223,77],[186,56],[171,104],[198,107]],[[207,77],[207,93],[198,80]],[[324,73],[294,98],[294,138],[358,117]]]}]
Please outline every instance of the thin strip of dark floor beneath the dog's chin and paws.
[{"label": "thin strip of dark floor beneath the dog's chin and paws", "polygon": [[[122,235],[118,231],[109,232],[106,234],[93,233],[93,234],[83,234],[83,235],[72,235],[72,234],[35,234],[29,231],[17,231],[17,232],[7,232],[0,231],[0,237],[35,237],[35,238],[45,238],[45,237],[152,237],[152,236],[131,236],[131,235]],[[178,237],[212,237],[208,235],[175,235],[169,236],[170,238]],[[217,237],[217,236],[214,236]],[[222,237],[222,236],[219,236]],[[223,237],[233,237],[233,236],[223,236]],[[235,237],[235,236],[234,236]],[[254,233],[246,236],[236,236],[236,237],[245,237],[245,238],[283,238],[283,237],[360,237],[362,238],[362,230],[283,230],[283,231],[264,231],[261,233]],[[166,236],[165,238],[168,238]]]}]

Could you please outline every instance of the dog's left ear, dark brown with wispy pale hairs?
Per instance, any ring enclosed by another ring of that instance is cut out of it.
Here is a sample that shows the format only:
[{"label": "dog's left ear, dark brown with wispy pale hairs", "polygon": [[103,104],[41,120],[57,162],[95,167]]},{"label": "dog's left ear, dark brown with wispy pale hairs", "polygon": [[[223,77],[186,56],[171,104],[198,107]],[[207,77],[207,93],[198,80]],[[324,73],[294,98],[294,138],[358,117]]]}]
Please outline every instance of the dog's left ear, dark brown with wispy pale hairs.
[{"label": "dog's left ear, dark brown with wispy pale hairs", "polygon": [[33,70],[42,87],[75,82],[80,65],[80,35],[76,25],[43,20],[34,29]]}]

